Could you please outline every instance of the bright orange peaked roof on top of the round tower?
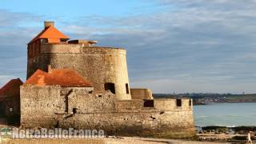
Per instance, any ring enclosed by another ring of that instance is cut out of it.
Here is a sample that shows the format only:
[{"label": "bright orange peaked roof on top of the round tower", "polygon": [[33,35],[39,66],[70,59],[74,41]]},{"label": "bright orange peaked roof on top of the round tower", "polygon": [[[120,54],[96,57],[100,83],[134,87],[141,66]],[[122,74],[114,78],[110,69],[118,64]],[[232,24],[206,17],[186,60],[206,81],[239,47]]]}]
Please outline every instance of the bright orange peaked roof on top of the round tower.
[{"label": "bright orange peaked roof on top of the round tower", "polygon": [[36,42],[38,39],[50,39],[50,42],[60,42],[60,39],[69,39],[65,34],[62,34],[54,26],[48,26],[41,33],[39,33],[35,38],[33,38],[30,43]]}]

